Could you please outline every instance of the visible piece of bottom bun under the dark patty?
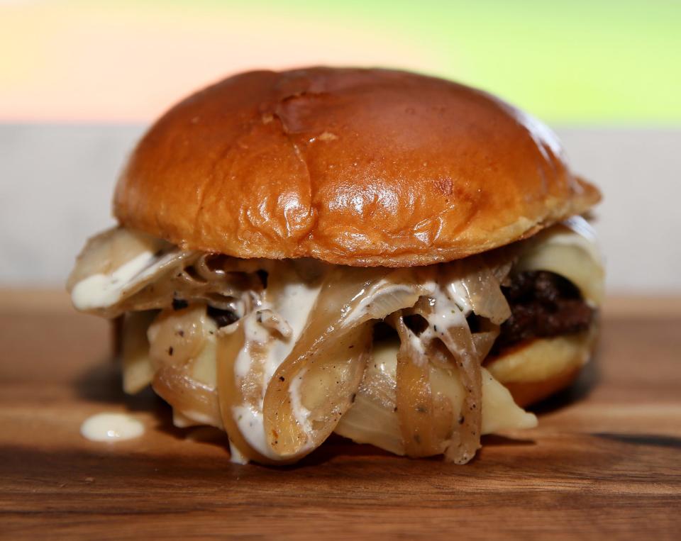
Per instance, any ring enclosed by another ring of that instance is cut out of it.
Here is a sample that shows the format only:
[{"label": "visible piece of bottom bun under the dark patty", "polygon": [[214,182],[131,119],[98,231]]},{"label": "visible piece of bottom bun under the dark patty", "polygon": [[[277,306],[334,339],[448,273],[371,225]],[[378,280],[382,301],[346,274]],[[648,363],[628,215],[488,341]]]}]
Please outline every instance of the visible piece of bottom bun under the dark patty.
[{"label": "visible piece of bottom bun under the dark patty", "polygon": [[536,338],[487,359],[485,368],[511,391],[521,407],[547,398],[572,384],[591,357],[595,325],[585,333]]}]

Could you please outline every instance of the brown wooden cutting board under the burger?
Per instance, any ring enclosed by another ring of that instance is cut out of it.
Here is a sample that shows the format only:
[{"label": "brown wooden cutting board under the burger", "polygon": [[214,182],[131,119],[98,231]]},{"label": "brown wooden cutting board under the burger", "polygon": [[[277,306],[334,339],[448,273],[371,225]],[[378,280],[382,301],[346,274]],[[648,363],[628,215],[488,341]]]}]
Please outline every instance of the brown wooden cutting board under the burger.
[{"label": "brown wooden cutting board under the burger", "polygon": [[[681,299],[614,299],[599,353],[539,427],[466,466],[341,438],[284,469],[124,396],[108,327],[50,291],[0,292],[0,538],[681,538]],[[79,435],[128,411],[138,440]]]}]

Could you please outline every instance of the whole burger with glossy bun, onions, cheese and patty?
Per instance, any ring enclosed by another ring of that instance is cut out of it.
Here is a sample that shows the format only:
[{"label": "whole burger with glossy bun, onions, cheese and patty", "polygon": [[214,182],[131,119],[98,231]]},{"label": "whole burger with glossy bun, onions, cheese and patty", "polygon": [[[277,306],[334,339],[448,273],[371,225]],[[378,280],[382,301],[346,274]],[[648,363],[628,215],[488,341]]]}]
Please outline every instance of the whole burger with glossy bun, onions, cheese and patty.
[{"label": "whole burger with glossy bun, onions, cheese and patty", "polygon": [[225,430],[235,462],[337,433],[464,464],[587,362],[599,199],[546,126],[483,91],[247,72],[143,136],[68,289],[122,322],[125,391]]}]

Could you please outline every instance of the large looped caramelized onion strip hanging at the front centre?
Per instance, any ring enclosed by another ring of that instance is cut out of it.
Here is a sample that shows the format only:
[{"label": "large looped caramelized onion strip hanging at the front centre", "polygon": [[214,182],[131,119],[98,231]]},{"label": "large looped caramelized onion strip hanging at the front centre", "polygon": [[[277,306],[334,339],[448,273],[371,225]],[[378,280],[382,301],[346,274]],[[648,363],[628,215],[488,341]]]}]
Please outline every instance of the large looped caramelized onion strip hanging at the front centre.
[{"label": "large looped caramelized onion strip hanging at the front centre", "polygon": [[272,449],[300,457],[331,434],[362,379],[371,338],[367,322],[411,306],[421,292],[408,270],[336,268],[328,274],[308,325],[265,394]]}]

